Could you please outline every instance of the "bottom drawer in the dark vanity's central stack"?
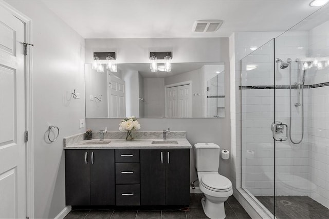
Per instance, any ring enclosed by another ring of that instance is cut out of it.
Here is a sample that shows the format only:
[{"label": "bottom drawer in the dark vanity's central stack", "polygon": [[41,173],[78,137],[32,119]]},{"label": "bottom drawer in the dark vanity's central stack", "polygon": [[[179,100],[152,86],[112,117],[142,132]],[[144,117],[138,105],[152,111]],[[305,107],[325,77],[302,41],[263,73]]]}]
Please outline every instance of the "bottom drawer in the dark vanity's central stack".
[{"label": "bottom drawer in the dark vanity's central stack", "polygon": [[116,185],[116,205],[140,205],[140,186]]}]

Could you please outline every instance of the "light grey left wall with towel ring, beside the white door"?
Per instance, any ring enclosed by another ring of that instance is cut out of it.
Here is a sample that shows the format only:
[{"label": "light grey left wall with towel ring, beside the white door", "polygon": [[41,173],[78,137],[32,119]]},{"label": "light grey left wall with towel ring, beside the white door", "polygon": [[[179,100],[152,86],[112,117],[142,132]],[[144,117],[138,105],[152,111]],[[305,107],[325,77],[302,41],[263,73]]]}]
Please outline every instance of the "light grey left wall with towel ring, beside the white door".
[{"label": "light grey left wall with towel ring, beside the white door", "polygon": [[[41,1],[7,1],[32,19],[33,141],[35,218],[54,218],[65,207],[62,139],[79,129],[85,117],[84,39]],[[76,89],[80,99],[71,97]],[[49,125],[58,141],[45,140]]]}]

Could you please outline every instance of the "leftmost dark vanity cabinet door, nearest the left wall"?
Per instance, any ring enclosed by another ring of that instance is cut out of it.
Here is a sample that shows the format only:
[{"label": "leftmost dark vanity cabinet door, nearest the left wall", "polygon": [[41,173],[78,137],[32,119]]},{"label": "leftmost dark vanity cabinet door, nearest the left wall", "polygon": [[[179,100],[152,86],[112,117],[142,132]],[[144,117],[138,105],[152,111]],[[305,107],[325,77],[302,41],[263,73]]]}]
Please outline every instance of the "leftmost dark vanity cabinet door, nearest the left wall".
[{"label": "leftmost dark vanity cabinet door, nearest the left wall", "polygon": [[65,150],[66,205],[90,205],[89,150]]}]

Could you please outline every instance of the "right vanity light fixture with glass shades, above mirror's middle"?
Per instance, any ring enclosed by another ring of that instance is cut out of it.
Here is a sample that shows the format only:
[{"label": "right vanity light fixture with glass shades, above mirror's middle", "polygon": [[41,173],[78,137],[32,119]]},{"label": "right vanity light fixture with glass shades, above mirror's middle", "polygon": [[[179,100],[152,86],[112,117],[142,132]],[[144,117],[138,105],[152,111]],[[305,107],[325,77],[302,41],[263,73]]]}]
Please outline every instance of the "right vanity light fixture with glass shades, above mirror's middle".
[{"label": "right vanity light fixture with glass shades, above mirror's middle", "polygon": [[[152,72],[171,71],[172,52],[150,52],[150,69]],[[158,63],[164,63],[164,66],[159,66]],[[163,70],[162,70],[163,69]]]}]

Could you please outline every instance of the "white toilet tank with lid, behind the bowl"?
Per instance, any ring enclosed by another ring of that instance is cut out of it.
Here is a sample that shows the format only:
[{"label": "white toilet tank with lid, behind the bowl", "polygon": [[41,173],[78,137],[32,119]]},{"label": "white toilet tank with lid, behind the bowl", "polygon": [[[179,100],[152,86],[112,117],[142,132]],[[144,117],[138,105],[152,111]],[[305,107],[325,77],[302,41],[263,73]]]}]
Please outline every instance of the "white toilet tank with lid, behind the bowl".
[{"label": "white toilet tank with lid, behind the bowl", "polygon": [[220,146],[214,143],[194,145],[195,168],[198,172],[215,172],[220,167]]}]

